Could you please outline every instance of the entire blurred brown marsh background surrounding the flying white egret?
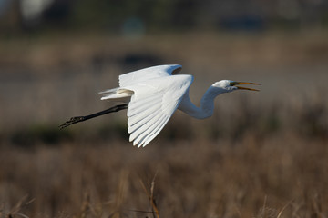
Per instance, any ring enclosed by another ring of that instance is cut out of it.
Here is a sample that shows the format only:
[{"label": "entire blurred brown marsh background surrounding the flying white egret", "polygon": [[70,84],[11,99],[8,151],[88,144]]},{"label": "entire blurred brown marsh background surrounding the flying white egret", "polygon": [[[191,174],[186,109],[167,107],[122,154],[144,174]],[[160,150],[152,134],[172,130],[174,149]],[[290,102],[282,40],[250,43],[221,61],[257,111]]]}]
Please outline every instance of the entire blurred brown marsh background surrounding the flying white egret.
[{"label": "entire blurred brown marsh background surrounding the flying white egret", "polygon": [[[0,217],[326,217],[325,0],[0,0]],[[261,92],[177,112],[145,149],[100,91],[157,64]],[[142,185],[141,185],[141,184]]]}]

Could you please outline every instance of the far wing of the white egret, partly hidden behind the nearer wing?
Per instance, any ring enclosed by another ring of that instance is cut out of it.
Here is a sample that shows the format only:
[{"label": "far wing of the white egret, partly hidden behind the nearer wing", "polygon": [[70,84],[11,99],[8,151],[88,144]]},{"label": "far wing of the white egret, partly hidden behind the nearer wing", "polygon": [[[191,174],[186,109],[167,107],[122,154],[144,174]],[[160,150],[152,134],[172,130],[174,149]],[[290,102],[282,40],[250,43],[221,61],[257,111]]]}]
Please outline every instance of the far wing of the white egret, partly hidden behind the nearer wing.
[{"label": "far wing of the white egret, partly hidden behind the nearer wing", "polygon": [[178,74],[182,69],[181,65],[158,65],[149,68],[134,71],[128,74],[119,76],[119,86],[126,87],[131,84],[138,84],[151,79],[156,79],[163,76]]}]

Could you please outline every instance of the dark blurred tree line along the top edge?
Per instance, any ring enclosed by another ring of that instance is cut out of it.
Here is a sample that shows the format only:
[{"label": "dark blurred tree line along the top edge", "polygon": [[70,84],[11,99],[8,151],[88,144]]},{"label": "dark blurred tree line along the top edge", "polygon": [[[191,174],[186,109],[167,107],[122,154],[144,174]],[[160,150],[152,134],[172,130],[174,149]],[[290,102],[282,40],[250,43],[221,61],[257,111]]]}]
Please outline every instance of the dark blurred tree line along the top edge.
[{"label": "dark blurred tree line along the top edge", "polygon": [[325,28],[326,0],[1,0],[0,32]]}]

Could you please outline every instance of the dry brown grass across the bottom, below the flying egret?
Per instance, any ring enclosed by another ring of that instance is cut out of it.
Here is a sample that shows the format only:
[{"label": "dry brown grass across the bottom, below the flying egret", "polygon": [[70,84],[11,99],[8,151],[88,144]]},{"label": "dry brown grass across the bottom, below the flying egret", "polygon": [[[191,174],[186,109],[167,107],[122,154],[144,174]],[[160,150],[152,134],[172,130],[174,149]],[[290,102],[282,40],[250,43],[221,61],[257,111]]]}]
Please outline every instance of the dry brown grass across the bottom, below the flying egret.
[{"label": "dry brown grass across the bottom, below the flying egret", "polygon": [[[59,144],[1,151],[3,217],[326,217],[327,142]],[[23,196],[24,199],[22,199]]]}]

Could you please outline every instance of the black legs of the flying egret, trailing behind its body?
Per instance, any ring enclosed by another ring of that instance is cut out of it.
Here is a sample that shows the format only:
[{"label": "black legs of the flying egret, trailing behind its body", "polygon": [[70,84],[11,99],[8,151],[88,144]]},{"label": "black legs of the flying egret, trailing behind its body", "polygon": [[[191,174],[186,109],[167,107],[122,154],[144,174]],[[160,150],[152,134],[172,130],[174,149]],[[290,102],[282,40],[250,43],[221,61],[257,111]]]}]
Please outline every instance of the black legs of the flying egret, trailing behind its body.
[{"label": "black legs of the flying egret, trailing behind its body", "polygon": [[64,124],[59,125],[58,127],[60,129],[64,129],[64,128],[66,128],[67,126],[69,126],[71,124],[77,124],[79,122],[83,122],[83,121],[86,121],[88,119],[100,116],[100,115],[109,114],[109,113],[113,113],[113,112],[118,112],[118,111],[125,110],[125,109],[128,109],[128,104],[119,104],[119,105],[113,106],[111,108],[108,108],[105,111],[97,112],[95,114],[89,114],[89,115],[86,115],[86,116],[74,116],[74,117],[70,118],[67,122],[65,122]]}]

